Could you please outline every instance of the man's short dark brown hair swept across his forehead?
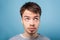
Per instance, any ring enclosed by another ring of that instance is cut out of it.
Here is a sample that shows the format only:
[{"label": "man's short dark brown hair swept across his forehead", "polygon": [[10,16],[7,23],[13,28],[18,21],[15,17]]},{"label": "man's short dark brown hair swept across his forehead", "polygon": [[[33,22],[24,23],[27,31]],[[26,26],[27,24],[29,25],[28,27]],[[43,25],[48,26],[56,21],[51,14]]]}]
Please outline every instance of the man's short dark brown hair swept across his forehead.
[{"label": "man's short dark brown hair swept across his forehead", "polygon": [[34,13],[39,13],[41,16],[41,7],[34,2],[27,2],[21,7],[20,10],[21,17],[26,9]]}]

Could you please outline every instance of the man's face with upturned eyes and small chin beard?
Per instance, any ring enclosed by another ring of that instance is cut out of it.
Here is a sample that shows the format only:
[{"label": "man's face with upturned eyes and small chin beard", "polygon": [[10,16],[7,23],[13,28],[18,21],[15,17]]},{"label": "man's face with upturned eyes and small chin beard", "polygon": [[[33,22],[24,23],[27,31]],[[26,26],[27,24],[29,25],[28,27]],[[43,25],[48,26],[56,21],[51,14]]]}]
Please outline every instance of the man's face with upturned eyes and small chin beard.
[{"label": "man's face with upturned eyes and small chin beard", "polygon": [[37,32],[40,22],[39,13],[33,13],[29,10],[25,10],[22,15],[22,23],[24,25],[25,32],[34,34]]}]

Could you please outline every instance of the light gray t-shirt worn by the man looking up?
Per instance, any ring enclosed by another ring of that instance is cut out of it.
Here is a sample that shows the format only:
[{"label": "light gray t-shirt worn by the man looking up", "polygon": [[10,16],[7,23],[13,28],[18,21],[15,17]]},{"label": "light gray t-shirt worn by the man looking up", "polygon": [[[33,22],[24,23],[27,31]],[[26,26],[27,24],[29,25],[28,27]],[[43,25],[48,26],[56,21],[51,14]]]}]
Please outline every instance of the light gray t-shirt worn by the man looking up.
[{"label": "light gray t-shirt worn by the man looking up", "polygon": [[49,39],[47,37],[40,35],[40,34],[36,38],[34,38],[34,37],[31,37],[31,38],[27,37],[26,38],[22,34],[20,34],[20,35],[16,35],[16,36],[10,38],[9,40],[49,40]]}]

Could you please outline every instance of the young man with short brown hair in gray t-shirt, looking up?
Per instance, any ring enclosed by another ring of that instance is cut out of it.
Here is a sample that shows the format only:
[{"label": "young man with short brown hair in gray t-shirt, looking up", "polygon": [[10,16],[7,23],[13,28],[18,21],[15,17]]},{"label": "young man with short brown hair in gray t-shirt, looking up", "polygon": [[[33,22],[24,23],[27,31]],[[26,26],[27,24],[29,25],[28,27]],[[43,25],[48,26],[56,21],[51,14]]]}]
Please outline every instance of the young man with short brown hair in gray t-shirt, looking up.
[{"label": "young man with short brown hair in gray t-shirt, looking up", "polygon": [[10,40],[49,40],[37,33],[40,23],[41,8],[34,2],[25,3],[20,10],[24,33],[11,38]]}]

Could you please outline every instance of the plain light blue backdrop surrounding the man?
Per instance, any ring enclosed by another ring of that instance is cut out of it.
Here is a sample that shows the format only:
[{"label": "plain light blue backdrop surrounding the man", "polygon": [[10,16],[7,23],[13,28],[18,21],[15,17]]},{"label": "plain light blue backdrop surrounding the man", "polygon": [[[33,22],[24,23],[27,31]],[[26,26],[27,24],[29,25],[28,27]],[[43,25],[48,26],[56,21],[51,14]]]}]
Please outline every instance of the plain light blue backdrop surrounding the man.
[{"label": "plain light blue backdrop surrounding the man", "polygon": [[8,40],[23,32],[20,7],[28,1],[42,8],[39,33],[51,40],[60,40],[60,0],[0,0],[0,40]]}]

